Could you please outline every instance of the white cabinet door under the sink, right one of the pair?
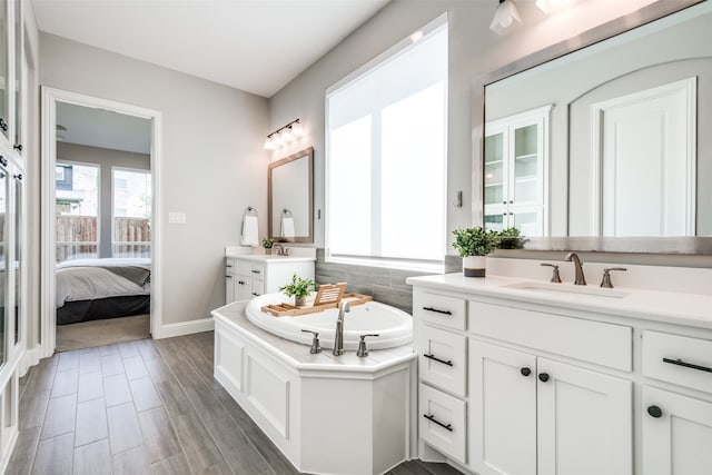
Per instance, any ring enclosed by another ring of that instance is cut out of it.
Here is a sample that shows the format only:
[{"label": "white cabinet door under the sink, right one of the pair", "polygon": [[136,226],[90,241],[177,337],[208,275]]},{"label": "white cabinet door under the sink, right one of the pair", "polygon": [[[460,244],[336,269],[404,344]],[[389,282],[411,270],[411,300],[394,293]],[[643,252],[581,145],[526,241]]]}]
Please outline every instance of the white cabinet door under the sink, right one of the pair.
[{"label": "white cabinet door under the sink, right one of the pair", "polygon": [[633,472],[632,383],[537,359],[540,474]]}]

